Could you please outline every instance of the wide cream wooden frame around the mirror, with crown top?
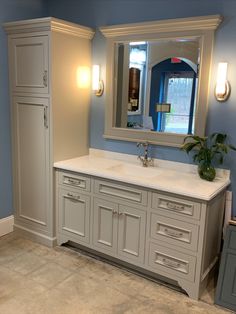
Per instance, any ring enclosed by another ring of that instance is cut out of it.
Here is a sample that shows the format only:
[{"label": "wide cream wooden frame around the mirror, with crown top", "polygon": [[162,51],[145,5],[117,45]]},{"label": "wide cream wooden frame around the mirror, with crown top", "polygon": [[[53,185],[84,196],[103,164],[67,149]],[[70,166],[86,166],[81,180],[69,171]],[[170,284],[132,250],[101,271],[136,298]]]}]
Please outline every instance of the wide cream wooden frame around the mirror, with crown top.
[{"label": "wide cream wooden frame around the mirror, with crown top", "polygon": [[115,43],[128,41],[169,40],[198,38],[200,47],[200,71],[196,100],[195,135],[204,136],[208,111],[210,71],[214,31],[221,23],[220,15],[151,21],[100,27],[107,40],[106,62],[106,113],[103,137],[131,142],[148,141],[155,145],[180,147],[187,134],[162,133],[115,127],[116,82]]}]

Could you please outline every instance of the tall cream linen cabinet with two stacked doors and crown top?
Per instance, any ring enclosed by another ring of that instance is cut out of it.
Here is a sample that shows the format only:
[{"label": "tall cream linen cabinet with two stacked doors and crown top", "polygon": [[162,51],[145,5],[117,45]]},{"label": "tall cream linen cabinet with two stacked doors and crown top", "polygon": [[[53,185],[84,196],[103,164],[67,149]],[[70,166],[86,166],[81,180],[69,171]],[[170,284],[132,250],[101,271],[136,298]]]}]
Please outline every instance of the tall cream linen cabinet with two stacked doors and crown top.
[{"label": "tall cream linen cabinet with two stacked doors and crown top", "polygon": [[[88,153],[92,29],[55,18],[4,24],[8,34],[14,228],[55,241],[53,163]],[[82,86],[82,87],[81,87]]]}]

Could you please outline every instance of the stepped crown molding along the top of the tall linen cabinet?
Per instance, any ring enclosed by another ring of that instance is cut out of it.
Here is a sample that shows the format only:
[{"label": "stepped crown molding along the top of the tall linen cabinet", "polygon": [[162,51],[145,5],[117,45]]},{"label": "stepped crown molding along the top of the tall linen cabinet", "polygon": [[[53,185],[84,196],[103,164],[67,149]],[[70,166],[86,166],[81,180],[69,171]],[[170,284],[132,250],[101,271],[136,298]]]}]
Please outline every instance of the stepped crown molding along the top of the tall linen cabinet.
[{"label": "stepped crown molding along the top of the tall linen cabinet", "polygon": [[67,22],[54,17],[8,22],[4,23],[3,27],[7,34],[56,31],[86,39],[92,39],[94,36],[94,31],[92,28]]}]

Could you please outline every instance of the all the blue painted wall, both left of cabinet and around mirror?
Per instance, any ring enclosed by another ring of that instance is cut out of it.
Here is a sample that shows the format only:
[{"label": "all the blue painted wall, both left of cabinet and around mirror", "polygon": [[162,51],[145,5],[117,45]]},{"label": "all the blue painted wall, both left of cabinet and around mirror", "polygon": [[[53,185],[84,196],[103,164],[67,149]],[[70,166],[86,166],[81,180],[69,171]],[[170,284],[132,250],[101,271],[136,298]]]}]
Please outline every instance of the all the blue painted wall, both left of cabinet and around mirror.
[{"label": "all the blue painted wall, both left of cabinet and around mirror", "polygon": [[[228,79],[232,86],[231,97],[218,103],[210,88],[207,132],[225,132],[236,145],[236,1],[235,0],[2,0],[0,21],[55,16],[82,25],[97,28],[103,25],[143,22],[167,18],[221,14],[224,22],[216,32],[212,78],[219,61],[229,63]],[[0,218],[11,214],[10,125],[7,84],[6,37],[0,31]],[[93,62],[102,65],[105,76],[105,39],[99,31],[93,39]],[[235,88],[234,88],[235,87]],[[90,146],[93,148],[137,154],[136,145],[129,142],[104,140],[105,95],[92,96]],[[175,148],[153,146],[152,155],[161,159],[191,162]],[[236,198],[236,153],[229,154],[225,167],[232,172],[232,190]],[[236,201],[235,201],[236,204]],[[236,207],[236,205],[235,205]],[[236,208],[235,208],[236,214]]]}]

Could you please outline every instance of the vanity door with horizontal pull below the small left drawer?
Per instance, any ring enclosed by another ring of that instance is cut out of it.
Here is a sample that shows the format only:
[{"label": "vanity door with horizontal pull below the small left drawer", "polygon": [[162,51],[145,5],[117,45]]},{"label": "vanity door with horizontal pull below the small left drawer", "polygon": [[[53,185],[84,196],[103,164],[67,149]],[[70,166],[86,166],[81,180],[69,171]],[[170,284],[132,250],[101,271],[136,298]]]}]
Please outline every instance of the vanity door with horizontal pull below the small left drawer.
[{"label": "vanity door with horizontal pull below the small left drawer", "polygon": [[89,243],[90,197],[59,189],[59,232],[71,240]]}]

